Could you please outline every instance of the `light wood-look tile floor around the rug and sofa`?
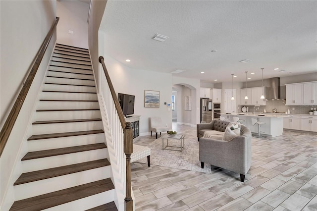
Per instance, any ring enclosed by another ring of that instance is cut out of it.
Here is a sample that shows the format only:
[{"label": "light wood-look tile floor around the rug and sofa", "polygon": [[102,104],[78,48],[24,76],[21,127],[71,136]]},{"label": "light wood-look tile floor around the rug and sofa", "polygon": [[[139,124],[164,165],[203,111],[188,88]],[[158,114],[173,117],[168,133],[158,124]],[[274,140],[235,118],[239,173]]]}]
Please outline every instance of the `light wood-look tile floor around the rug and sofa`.
[{"label": "light wood-look tile floor around the rug and sofa", "polygon": [[[196,137],[196,127],[173,122],[173,130]],[[135,144],[154,140],[142,136]],[[245,182],[216,167],[200,173],[134,162],[131,169],[136,211],[317,211],[317,133],[252,138]]]}]

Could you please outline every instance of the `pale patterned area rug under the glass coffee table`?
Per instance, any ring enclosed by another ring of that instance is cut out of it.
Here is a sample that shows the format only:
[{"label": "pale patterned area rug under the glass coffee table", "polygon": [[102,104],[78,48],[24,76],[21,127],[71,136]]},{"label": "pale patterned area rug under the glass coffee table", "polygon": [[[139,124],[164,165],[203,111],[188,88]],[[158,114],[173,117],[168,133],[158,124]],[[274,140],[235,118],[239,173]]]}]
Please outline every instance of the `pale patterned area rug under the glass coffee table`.
[{"label": "pale patterned area rug under the glass coffee table", "polygon": [[[169,139],[168,145],[179,147],[180,140]],[[164,146],[166,146],[166,140],[164,140]],[[182,152],[162,150],[161,138],[156,139],[147,147],[151,148],[151,165],[211,173],[211,166],[209,164],[205,163],[205,168],[201,168],[199,161],[199,142],[197,139],[186,139],[185,137],[185,147]],[[179,148],[175,149],[178,150]],[[135,162],[148,163],[146,157]]]}]

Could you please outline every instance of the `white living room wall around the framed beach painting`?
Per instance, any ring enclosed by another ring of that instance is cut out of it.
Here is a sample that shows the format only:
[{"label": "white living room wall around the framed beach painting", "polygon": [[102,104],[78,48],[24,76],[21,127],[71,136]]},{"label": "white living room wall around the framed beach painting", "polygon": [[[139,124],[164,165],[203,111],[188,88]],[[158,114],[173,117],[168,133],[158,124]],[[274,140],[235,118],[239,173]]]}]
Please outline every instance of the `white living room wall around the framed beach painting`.
[{"label": "white living room wall around the framed beach painting", "polygon": [[[101,48],[101,46],[99,47]],[[135,96],[134,115],[141,115],[140,135],[150,134],[149,118],[152,116],[160,116],[163,125],[167,124],[172,129],[171,107],[164,105],[164,102],[171,103],[171,74],[131,69],[108,55],[104,55],[104,57],[116,94],[123,93]],[[159,108],[144,107],[145,90],[160,92]]]}]

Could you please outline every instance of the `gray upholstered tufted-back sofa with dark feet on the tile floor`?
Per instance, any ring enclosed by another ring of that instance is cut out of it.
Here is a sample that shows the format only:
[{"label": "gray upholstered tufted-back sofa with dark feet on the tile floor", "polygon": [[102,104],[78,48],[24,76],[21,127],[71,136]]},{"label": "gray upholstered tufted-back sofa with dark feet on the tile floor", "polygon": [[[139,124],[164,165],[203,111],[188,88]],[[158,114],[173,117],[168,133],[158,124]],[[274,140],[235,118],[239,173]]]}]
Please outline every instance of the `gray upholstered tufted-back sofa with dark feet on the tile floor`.
[{"label": "gray upholstered tufted-back sofa with dark feet on the tile floor", "polygon": [[204,132],[214,130],[224,132],[230,124],[227,121],[212,120],[211,123],[197,124],[197,137],[199,140],[199,159],[202,168],[207,162],[221,168],[240,173],[240,180],[244,182],[245,175],[251,166],[251,131],[239,124],[241,136],[229,141],[213,138],[203,138]]}]

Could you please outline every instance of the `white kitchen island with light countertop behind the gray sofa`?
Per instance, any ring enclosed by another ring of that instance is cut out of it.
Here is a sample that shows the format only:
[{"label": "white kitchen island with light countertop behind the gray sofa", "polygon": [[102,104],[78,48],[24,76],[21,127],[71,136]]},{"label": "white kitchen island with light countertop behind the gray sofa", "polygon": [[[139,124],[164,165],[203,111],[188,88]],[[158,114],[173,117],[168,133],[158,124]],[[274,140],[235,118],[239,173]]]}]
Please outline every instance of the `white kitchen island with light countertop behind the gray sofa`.
[{"label": "white kitchen island with light countertop behind the gray sofa", "polygon": [[260,133],[264,136],[276,137],[283,135],[283,118],[290,117],[292,115],[288,114],[273,114],[273,113],[221,113],[225,119],[233,121],[233,117],[237,116],[239,119],[244,120],[241,124],[247,126],[252,133],[258,134],[258,126],[252,124],[251,119],[257,119],[261,124]]}]

